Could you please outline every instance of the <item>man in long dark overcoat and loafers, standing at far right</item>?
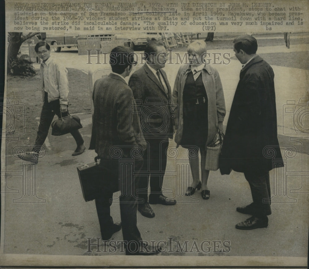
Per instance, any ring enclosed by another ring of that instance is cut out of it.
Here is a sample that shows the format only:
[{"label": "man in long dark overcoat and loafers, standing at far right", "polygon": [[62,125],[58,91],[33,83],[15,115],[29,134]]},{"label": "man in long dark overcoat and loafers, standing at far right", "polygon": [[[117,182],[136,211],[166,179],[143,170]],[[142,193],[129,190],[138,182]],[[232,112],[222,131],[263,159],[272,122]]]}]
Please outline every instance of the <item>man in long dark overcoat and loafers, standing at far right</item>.
[{"label": "man in long dark overcoat and loafers, standing at far right", "polygon": [[220,170],[222,174],[229,174],[231,169],[244,173],[253,202],[236,210],[252,217],[238,223],[236,228],[252,230],[268,226],[269,171],[283,166],[283,161],[277,139],[273,69],[256,55],[254,37],[244,35],[233,42],[235,56],[243,67],[227,122]]}]

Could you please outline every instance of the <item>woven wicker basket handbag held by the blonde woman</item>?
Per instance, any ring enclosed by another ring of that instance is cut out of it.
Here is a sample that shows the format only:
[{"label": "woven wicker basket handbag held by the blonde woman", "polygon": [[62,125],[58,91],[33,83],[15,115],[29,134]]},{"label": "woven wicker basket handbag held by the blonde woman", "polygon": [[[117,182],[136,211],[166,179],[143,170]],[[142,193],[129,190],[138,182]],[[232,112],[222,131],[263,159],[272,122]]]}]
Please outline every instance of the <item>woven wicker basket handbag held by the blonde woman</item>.
[{"label": "woven wicker basket handbag held by the blonde woman", "polygon": [[217,171],[219,169],[219,156],[222,150],[224,134],[218,130],[213,141],[207,146],[205,169]]}]

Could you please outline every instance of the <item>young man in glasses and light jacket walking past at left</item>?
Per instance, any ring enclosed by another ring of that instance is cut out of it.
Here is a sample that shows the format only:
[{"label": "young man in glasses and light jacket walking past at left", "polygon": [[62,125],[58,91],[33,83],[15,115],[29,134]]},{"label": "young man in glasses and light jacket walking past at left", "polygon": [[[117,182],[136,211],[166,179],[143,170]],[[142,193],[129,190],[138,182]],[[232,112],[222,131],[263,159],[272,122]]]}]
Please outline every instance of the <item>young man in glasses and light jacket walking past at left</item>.
[{"label": "young man in glasses and light jacket walking past at left", "polygon": [[[61,116],[68,116],[69,81],[66,67],[50,56],[50,46],[48,43],[40,41],[36,44],[34,50],[43,60],[40,66],[43,107],[35,146],[32,152],[21,156],[21,159],[37,163],[39,151],[48,135],[53,117],[55,114],[59,118]],[[86,149],[83,137],[78,130],[72,131],[71,135],[77,144],[77,148],[72,153],[72,156],[82,154]]]}]

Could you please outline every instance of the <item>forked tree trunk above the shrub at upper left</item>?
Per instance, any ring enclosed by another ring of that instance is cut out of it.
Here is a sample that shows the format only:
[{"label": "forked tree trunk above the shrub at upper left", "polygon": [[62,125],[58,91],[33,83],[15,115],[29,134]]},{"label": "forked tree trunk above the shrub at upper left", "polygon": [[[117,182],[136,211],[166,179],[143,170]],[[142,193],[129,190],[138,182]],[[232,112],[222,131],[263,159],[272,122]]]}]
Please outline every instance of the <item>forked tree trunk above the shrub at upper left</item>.
[{"label": "forked tree trunk above the shrub at upper left", "polygon": [[17,58],[21,44],[27,39],[39,33],[27,33],[23,34],[21,32],[9,32],[7,47],[7,71],[10,72],[11,62]]}]

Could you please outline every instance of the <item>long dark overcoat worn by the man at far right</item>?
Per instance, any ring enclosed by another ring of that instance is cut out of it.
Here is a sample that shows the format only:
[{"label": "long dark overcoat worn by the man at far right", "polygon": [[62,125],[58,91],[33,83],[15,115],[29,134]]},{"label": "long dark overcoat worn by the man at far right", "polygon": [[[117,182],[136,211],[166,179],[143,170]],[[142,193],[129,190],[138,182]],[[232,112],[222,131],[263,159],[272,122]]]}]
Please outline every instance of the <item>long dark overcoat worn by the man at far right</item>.
[{"label": "long dark overcoat worn by the man at far right", "polygon": [[238,172],[264,173],[273,169],[273,161],[283,165],[277,139],[274,73],[258,55],[240,72],[223,140],[222,160],[220,168],[224,165],[223,168]]}]

